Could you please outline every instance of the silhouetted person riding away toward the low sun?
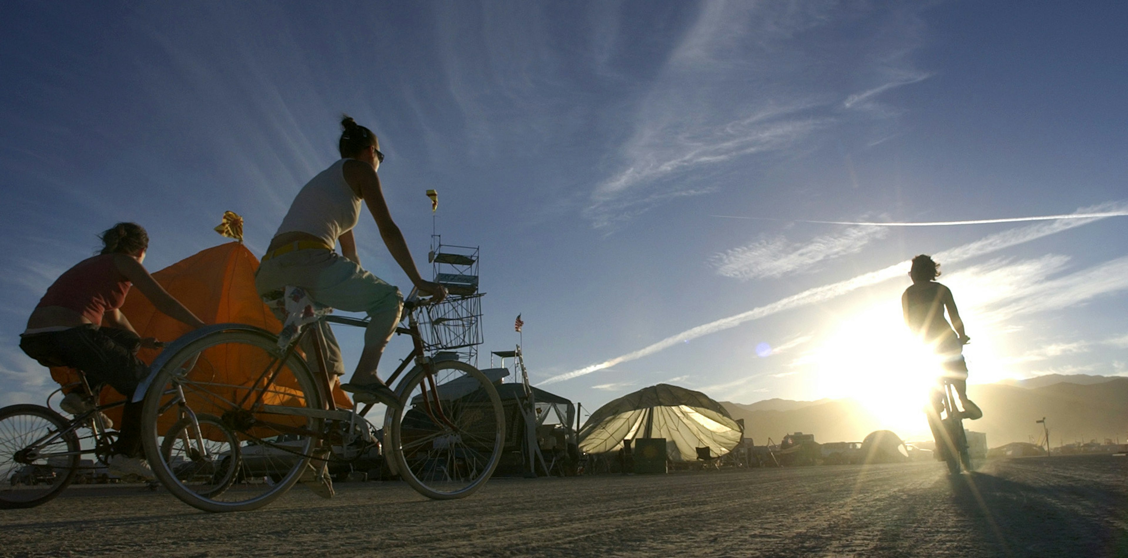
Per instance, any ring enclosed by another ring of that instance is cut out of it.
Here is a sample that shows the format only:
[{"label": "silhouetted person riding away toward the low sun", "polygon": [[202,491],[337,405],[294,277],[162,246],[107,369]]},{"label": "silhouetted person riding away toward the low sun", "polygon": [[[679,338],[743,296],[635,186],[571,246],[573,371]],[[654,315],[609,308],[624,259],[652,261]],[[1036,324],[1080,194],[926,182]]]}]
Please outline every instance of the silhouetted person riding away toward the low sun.
[{"label": "silhouetted person riding away toward the low sun", "polygon": [[[940,276],[938,268],[940,264],[924,254],[913,258],[909,271],[913,285],[901,295],[905,324],[941,358],[945,375],[960,397],[963,418],[975,420],[984,416],[984,413],[968,399],[967,393],[968,364],[963,360],[963,345],[971,337],[963,331],[963,320],[955,309],[952,291],[935,281]],[[952,319],[951,325],[944,319],[944,309],[948,309],[948,316]],[[935,390],[932,402],[937,413],[942,400],[943,391]]]}]

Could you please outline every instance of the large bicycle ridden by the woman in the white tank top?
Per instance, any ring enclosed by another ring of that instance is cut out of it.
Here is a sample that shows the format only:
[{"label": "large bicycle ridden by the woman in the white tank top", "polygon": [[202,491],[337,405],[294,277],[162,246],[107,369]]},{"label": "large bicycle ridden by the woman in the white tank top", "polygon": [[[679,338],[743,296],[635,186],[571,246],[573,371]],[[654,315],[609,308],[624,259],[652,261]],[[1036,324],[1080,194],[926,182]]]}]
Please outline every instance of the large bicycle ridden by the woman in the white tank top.
[{"label": "large bicycle ridden by the woman in the white tank top", "polygon": [[[334,401],[321,351],[325,338],[316,324],[367,327],[367,319],[318,309],[326,315],[293,331],[288,326],[281,337],[241,324],[180,337],[157,357],[138,390],[142,395],[134,398],[143,400],[142,439],[157,478],[196,508],[247,511],[285,494],[311,463],[317,469],[380,449],[390,472],[420,494],[434,499],[469,496],[501,459],[503,408],[497,390],[476,367],[440,354],[428,356],[443,348],[426,343],[420,330],[416,312],[429,303],[414,293],[404,303],[396,334],[408,335],[413,348],[388,378],[397,400],[385,414],[382,440],[364,418],[374,404],[343,409]],[[312,336],[316,373],[299,351],[306,336]],[[237,471],[227,490],[210,494],[175,475],[160,433],[183,413],[176,409],[214,416],[237,437],[226,455]]]}]

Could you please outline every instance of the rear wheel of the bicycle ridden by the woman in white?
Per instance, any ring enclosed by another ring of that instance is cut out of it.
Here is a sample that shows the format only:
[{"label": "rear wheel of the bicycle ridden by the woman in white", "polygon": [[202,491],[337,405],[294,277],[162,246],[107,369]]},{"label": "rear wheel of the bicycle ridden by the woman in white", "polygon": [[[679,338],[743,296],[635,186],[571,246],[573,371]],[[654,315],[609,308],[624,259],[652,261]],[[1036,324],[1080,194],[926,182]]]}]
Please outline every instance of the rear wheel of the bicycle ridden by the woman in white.
[{"label": "rear wheel of the bicycle ridden by the woman in white", "polygon": [[[318,382],[296,353],[279,369],[271,390],[257,387],[261,374],[268,374],[279,362],[279,353],[277,337],[270,331],[232,326],[206,333],[165,360],[144,396],[142,437],[153,473],[182,502],[213,513],[256,510],[285,494],[309,467],[318,443],[318,435],[311,433],[321,432],[321,418],[270,413],[252,407],[252,401],[241,402],[243,396],[256,390],[263,402],[270,399],[283,407],[321,409]],[[197,417],[219,417],[240,442],[235,484],[222,493],[204,495],[185,487],[176,477],[175,463],[160,453],[168,432],[160,424],[180,420],[175,404],[178,390]]]}]

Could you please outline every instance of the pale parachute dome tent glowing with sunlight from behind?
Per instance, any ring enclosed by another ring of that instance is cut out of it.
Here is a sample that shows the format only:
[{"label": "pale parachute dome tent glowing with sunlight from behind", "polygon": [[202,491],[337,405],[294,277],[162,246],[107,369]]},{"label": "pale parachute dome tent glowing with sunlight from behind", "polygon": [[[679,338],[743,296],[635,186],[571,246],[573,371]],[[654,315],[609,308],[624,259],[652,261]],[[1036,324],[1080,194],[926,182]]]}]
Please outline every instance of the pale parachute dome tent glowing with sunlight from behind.
[{"label": "pale parachute dome tent glowing with sunlight from behind", "polygon": [[607,453],[624,440],[664,437],[671,461],[696,461],[697,448],[714,457],[732,451],[743,437],[721,404],[700,391],[659,383],[623,396],[591,414],[580,431],[580,450]]}]

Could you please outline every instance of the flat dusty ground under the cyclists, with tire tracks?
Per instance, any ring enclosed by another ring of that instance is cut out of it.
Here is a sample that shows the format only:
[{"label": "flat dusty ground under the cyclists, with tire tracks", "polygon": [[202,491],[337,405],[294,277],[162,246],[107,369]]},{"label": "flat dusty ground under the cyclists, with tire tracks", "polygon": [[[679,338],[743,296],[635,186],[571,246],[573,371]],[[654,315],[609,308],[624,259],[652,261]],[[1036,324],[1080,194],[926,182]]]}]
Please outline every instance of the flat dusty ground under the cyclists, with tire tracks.
[{"label": "flat dusty ground under the cyclists, with tire tracks", "polygon": [[432,502],[406,485],[294,488],[212,515],[165,491],[72,487],[0,512],[0,556],[1128,557],[1128,458],[497,478]]}]

